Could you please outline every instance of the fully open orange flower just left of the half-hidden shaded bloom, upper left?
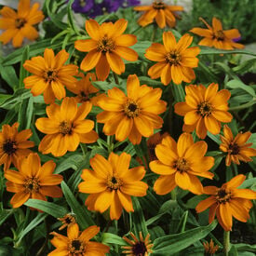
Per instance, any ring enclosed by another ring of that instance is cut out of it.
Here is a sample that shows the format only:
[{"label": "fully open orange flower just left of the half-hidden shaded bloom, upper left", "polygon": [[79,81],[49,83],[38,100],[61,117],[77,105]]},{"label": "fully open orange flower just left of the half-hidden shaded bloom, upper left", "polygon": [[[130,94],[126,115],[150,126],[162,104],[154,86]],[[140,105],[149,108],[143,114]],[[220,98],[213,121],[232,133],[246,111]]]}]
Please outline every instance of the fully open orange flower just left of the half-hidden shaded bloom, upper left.
[{"label": "fully open orange flower just left of the half-hidden shaded bloom, upper left", "polygon": [[78,67],[73,64],[64,65],[69,53],[62,49],[56,56],[50,48],[45,49],[44,57],[33,57],[25,61],[23,67],[33,75],[26,77],[23,82],[25,88],[31,88],[34,96],[44,92],[46,103],[53,103],[55,99],[61,100],[66,96],[66,90],[74,88],[77,80]]}]

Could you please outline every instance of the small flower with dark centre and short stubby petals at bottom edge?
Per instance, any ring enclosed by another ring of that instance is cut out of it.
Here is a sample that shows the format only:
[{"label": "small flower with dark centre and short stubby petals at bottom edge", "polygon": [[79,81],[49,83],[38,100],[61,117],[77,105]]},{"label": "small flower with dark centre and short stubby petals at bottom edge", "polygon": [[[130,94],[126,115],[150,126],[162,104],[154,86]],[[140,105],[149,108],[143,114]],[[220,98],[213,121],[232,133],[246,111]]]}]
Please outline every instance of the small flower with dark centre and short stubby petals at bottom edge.
[{"label": "small flower with dark centre and short stubby petals at bottom edge", "polygon": [[128,239],[127,236],[123,236],[123,239],[130,245],[122,246],[122,249],[126,249],[123,251],[123,253],[128,254],[128,256],[148,256],[153,252],[152,248],[154,244],[151,244],[149,234],[147,234],[145,239],[143,238],[141,231],[139,233],[140,239],[138,239],[132,232],[130,232],[129,235],[133,238],[133,240]]}]

